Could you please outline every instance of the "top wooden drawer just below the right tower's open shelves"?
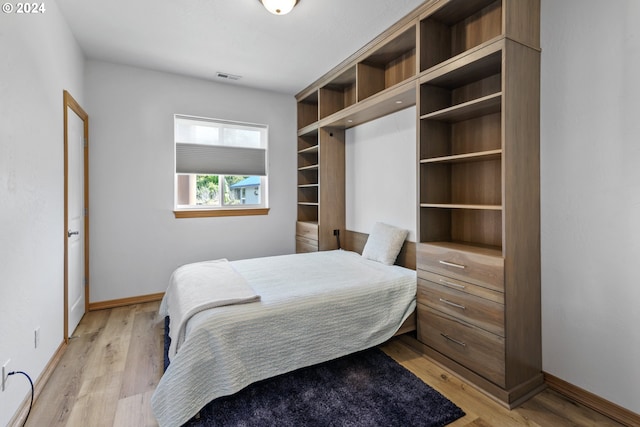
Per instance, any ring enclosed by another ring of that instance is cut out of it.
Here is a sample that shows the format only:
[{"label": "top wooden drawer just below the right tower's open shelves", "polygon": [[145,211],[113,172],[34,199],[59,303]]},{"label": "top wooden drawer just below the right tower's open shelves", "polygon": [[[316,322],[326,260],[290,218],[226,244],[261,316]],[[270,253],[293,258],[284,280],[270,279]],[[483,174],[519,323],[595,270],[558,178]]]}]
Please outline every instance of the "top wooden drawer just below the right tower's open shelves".
[{"label": "top wooden drawer just below the right tower's open shelves", "polygon": [[421,243],[416,252],[419,269],[504,291],[504,259],[498,251],[480,248],[470,251],[469,246]]}]

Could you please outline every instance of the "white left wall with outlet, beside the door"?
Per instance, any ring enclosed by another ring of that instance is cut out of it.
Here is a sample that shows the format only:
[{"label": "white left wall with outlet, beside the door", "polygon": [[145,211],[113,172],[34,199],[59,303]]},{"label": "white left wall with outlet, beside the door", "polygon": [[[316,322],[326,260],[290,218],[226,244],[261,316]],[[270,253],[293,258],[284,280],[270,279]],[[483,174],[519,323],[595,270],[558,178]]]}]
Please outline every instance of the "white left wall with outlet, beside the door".
[{"label": "white left wall with outlet, beside the door", "polygon": [[[35,381],[63,340],[62,91],[82,102],[84,60],[54,2],[0,14],[0,52],[0,365]],[[9,377],[1,426],[30,390]]]}]

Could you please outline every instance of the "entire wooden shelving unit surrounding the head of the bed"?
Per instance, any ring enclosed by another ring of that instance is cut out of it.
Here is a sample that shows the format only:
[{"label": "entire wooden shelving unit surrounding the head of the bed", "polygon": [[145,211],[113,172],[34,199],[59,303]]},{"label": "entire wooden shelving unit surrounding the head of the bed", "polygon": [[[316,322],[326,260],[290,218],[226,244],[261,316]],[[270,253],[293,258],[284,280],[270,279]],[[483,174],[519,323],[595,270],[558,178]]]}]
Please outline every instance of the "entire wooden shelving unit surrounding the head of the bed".
[{"label": "entire wooden shelving unit surrounding the head of the bed", "polygon": [[543,386],[539,26],[425,1],[296,96],[298,251],[344,230],[344,130],[417,106],[416,346],[508,407]]}]

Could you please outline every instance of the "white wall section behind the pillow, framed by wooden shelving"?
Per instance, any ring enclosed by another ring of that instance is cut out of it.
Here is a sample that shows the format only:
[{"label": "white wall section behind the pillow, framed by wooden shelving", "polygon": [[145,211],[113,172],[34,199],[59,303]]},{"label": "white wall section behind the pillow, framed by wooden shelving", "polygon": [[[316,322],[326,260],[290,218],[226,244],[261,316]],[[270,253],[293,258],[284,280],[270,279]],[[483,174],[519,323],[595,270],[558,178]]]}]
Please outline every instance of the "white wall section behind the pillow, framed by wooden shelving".
[{"label": "white wall section behind the pillow, framed by wooden shelving", "polygon": [[377,221],[416,241],[416,108],[346,132],[346,226],[370,233]]}]

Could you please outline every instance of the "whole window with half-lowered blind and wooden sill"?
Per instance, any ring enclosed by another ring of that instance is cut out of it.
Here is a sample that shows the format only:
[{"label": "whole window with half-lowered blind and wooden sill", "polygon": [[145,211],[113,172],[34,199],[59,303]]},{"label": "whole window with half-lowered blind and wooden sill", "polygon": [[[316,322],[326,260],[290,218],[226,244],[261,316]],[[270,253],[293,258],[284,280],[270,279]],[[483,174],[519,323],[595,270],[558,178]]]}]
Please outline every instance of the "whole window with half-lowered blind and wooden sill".
[{"label": "whole window with half-lowered blind and wooden sill", "polygon": [[176,217],[266,214],[266,125],[175,115]]}]

